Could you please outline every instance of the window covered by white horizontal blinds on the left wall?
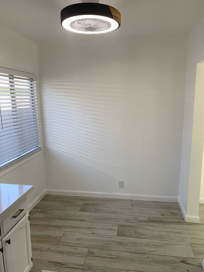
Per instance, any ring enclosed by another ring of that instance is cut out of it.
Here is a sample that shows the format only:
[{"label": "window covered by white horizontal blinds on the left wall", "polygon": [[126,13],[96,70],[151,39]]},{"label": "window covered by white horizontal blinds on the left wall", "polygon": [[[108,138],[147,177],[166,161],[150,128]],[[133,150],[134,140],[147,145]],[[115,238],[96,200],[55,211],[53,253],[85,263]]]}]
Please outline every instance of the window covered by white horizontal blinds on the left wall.
[{"label": "window covered by white horizontal blinds on the left wall", "polygon": [[0,171],[41,150],[35,78],[0,67]]}]

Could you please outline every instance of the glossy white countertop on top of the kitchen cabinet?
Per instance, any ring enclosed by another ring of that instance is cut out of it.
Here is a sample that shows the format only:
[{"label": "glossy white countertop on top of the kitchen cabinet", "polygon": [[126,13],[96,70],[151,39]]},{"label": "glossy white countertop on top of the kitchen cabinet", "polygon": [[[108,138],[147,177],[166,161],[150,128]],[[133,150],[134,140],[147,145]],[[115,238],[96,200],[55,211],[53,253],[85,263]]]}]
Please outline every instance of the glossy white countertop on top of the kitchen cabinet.
[{"label": "glossy white countertop on top of the kitchen cabinet", "polygon": [[12,210],[32,190],[32,185],[0,183],[0,218]]}]

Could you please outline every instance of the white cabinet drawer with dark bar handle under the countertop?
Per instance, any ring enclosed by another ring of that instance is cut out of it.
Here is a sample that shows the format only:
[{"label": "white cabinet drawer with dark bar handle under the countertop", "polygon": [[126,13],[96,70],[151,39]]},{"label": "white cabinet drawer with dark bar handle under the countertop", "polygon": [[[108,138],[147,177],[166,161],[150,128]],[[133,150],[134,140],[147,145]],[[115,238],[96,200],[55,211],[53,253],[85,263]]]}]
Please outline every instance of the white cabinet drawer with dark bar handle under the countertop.
[{"label": "white cabinet drawer with dark bar handle under the countertop", "polygon": [[11,211],[2,221],[3,233],[10,230],[25,215],[28,210],[27,199],[20,203],[13,211]]}]

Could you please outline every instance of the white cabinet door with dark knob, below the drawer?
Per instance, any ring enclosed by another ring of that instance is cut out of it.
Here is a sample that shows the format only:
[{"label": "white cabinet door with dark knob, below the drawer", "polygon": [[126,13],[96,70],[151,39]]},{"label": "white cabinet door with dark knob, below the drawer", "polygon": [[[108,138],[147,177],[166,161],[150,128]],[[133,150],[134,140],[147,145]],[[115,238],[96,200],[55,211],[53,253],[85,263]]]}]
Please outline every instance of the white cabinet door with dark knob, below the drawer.
[{"label": "white cabinet door with dark knob, below the drawer", "polygon": [[32,267],[30,224],[26,214],[2,239],[5,272],[28,272]]}]

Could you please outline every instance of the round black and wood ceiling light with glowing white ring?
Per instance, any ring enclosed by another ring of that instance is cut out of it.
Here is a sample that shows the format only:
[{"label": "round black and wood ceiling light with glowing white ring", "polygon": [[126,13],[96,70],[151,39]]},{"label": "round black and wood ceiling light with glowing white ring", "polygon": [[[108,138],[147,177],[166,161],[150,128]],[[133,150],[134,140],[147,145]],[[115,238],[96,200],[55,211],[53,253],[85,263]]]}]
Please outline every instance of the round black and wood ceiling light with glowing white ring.
[{"label": "round black and wood ceiling light with glowing white ring", "polygon": [[101,34],[121,26],[121,13],[98,0],[82,0],[63,8],[60,15],[62,27],[76,33]]}]

